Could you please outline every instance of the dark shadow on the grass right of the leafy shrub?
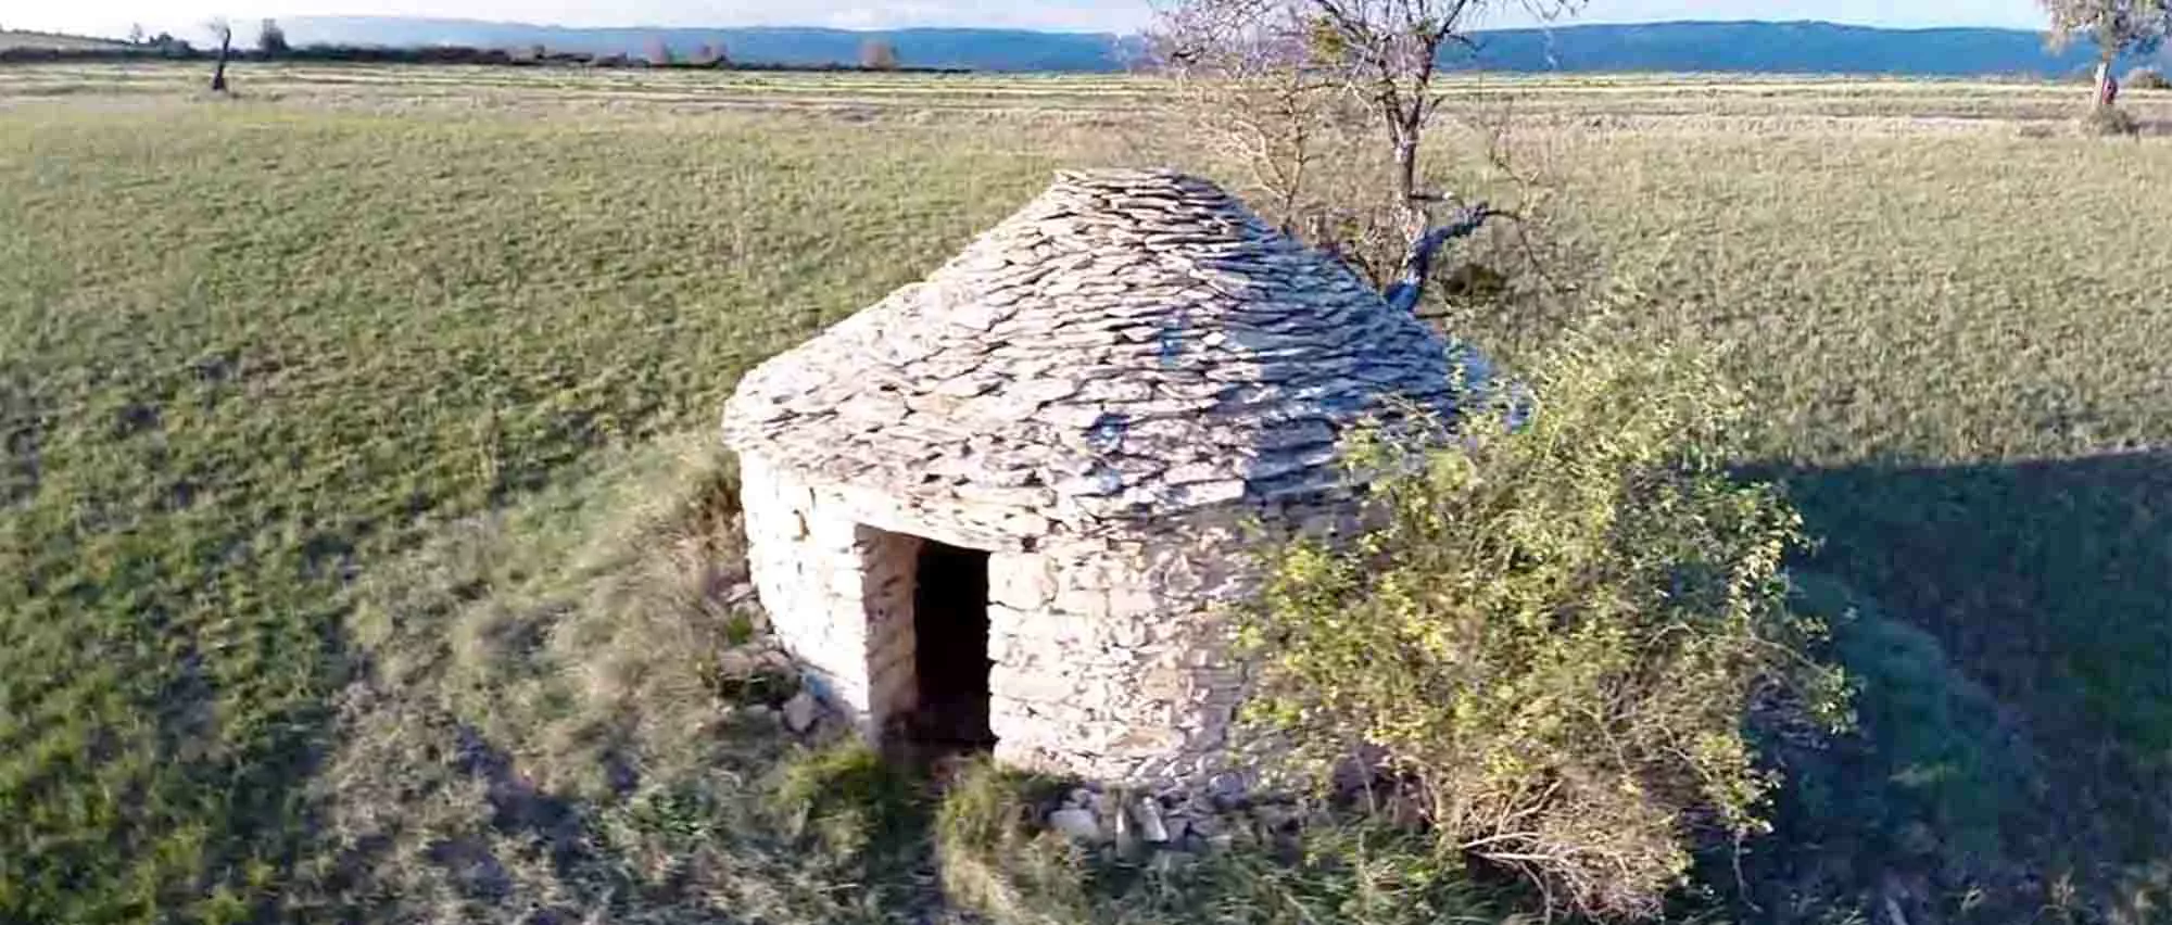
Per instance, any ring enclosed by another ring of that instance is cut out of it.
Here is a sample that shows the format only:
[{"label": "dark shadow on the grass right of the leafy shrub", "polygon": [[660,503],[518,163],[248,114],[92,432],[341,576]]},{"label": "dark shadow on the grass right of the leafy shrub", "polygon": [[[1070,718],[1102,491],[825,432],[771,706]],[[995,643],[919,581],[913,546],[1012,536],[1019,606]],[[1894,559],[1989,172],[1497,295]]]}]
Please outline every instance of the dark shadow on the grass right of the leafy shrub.
[{"label": "dark shadow on the grass right of the leafy shrub", "polygon": [[1807,569],[1935,636],[2026,743],[2009,853],[2172,858],[2172,452],[1748,476],[1790,489]]}]

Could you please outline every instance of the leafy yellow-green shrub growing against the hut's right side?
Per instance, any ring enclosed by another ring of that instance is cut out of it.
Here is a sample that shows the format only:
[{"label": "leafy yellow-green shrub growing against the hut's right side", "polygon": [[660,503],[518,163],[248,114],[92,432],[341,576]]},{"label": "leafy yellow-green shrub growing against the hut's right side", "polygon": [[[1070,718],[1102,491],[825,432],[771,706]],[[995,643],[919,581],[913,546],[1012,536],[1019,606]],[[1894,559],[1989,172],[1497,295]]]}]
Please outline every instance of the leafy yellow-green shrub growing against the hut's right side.
[{"label": "leafy yellow-green shrub growing against the hut's right side", "polygon": [[1838,727],[1844,690],[1785,606],[1801,521],[1720,469],[1742,406],[1703,363],[1577,332],[1531,387],[1523,428],[1492,402],[1455,449],[1351,445],[1377,530],[1271,554],[1247,721],[1301,782],[1373,751],[1447,849],[1649,916],[1692,849],[1768,827],[1753,708]]}]

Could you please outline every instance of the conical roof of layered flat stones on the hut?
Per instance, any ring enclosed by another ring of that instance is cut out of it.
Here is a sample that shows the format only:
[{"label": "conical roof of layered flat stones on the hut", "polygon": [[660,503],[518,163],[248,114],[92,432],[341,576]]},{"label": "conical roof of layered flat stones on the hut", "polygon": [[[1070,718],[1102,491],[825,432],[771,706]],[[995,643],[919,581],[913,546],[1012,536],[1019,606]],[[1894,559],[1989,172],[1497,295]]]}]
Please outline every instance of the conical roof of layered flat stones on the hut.
[{"label": "conical roof of layered flat stones on the hut", "polygon": [[725,439],[923,506],[1151,517],[1316,493],[1344,426],[1453,395],[1438,334],[1212,182],[1066,172],[747,373]]}]

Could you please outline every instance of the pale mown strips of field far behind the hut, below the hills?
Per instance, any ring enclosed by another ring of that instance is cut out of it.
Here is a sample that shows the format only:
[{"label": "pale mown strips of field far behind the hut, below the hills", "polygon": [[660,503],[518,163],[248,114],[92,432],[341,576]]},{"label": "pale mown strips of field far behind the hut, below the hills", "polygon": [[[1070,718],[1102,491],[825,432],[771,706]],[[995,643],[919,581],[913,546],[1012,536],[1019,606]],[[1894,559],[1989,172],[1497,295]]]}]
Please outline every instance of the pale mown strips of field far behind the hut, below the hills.
[{"label": "pale mown strips of field far behind the hut, below the hills", "polygon": [[[1108,117],[1153,111],[1166,87],[1153,76],[1064,74],[817,74],[817,72],[706,72],[706,69],[571,69],[473,65],[248,65],[245,98],[311,104],[456,104],[510,109],[667,106],[808,109],[938,113],[1032,113]],[[0,72],[7,98],[37,96],[176,96],[204,80],[200,65],[35,65]],[[1590,128],[1651,128],[1712,117],[1755,124],[1775,119],[1879,124],[1911,128],[1972,128],[1994,132],[2042,130],[2072,119],[2079,85],[2040,80],[1909,80],[1740,74],[1579,74],[1510,76],[1466,74],[1442,80],[1457,102],[1512,113],[1525,124]],[[2126,93],[2144,119],[2172,122],[2172,91]],[[1801,126],[1794,126],[1801,128]],[[2063,126],[2061,126],[2063,128]]]}]

